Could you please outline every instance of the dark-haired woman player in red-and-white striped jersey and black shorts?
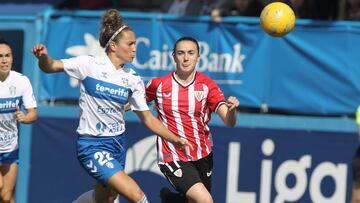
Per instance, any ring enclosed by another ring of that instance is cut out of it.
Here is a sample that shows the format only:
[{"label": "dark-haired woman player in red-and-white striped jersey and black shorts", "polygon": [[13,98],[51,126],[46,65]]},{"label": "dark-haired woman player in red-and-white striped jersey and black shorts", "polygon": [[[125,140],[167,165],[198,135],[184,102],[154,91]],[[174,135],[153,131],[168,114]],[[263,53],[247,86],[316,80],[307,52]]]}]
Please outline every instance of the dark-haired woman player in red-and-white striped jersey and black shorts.
[{"label": "dark-haired woman player in red-and-white striped jersey and black shorts", "polygon": [[[239,101],[233,96],[226,101],[217,84],[195,70],[200,53],[194,38],[178,39],[172,55],[176,63],[175,72],[149,81],[146,100],[155,101],[162,123],[194,148],[188,149],[190,153],[185,154],[158,137],[158,164],[169,182],[188,202],[212,203],[212,138],[207,124],[211,113],[215,112],[226,126],[233,127]],[[165,202],[175,202],[174,199],[162,198]]]}]

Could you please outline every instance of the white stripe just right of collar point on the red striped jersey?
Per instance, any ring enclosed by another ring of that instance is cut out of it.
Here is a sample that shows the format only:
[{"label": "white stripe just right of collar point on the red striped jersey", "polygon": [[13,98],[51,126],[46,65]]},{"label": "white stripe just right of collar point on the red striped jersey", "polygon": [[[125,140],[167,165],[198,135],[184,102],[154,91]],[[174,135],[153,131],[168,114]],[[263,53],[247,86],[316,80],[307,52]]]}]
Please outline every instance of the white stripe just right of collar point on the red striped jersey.
[{"label": "white stripe just right of collar point on the red striped jersey", "polygon": [[[196,122],[194,113],[195,113],[195,94],[194,94],[194,89],[195,89],[195,83],[193,83],[190,87],[189,87],[189,116],[191,119],[191,125],[193,127],[193,133],[194,133],[194,137],[195,137],[195,141],[196,141],[196,145],[197,145],[197,159],[201,158],[201,144],[200,144],[200,137],[199,137],[199,129],[198,129],[198,124]],[[203,95],[204,96],[204,95]]]}]

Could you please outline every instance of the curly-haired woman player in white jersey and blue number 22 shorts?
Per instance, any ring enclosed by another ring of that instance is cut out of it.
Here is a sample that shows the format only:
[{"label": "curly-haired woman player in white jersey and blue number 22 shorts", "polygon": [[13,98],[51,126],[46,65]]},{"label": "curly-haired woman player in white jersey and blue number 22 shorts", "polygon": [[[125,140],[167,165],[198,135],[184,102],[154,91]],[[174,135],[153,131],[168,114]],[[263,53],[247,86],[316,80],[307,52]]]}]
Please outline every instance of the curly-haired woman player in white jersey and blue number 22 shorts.
[{"label": "curly-haired woman player in white jersey and blue number 22 shorts", "polygon": [[42,44],[35,45],[33,53],[44,72],[65,71],[80,81],[77,156],[81,166],[97,180],[95,194],[91,194],[95,196],[92,202],[112,203],[117,194],[121,194],[130,202],[147,203],[144,192],[124,172],[125,105],[129,102],[151,131],[177,148],[185,150],[192,146],[167,130],[151,114],[143,81],[126,65],[135,57],[135,33],[124,24],[117,10],[108,10],[103,15],[99,41],[105,48],[105,57],[54,60]]}]

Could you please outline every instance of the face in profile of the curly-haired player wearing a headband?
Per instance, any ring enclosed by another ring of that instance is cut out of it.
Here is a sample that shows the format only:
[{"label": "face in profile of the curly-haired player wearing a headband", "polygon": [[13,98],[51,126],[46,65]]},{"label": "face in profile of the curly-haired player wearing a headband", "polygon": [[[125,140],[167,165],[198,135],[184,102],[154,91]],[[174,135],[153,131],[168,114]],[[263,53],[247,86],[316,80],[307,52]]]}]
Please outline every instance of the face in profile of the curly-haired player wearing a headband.
[{"label": "face in profile of the curly-haired player wearing a headband", "polygon": [[136,54],[135,33],[131,30],[125,30],[116,42],[115,55],[124,63],[132,62]]}]

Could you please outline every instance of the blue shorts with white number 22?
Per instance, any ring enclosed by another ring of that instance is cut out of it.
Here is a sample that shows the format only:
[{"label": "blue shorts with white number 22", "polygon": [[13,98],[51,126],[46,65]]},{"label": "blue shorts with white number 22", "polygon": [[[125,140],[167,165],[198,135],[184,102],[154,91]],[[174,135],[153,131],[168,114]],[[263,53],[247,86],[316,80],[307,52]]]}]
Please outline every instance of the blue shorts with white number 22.
[{"label": "blue shorts with white number 22", "polygon": [[77,156],[81,166],[96,180],[106,184],[125,168],[125,135],[112,137],[79,136]]}]

